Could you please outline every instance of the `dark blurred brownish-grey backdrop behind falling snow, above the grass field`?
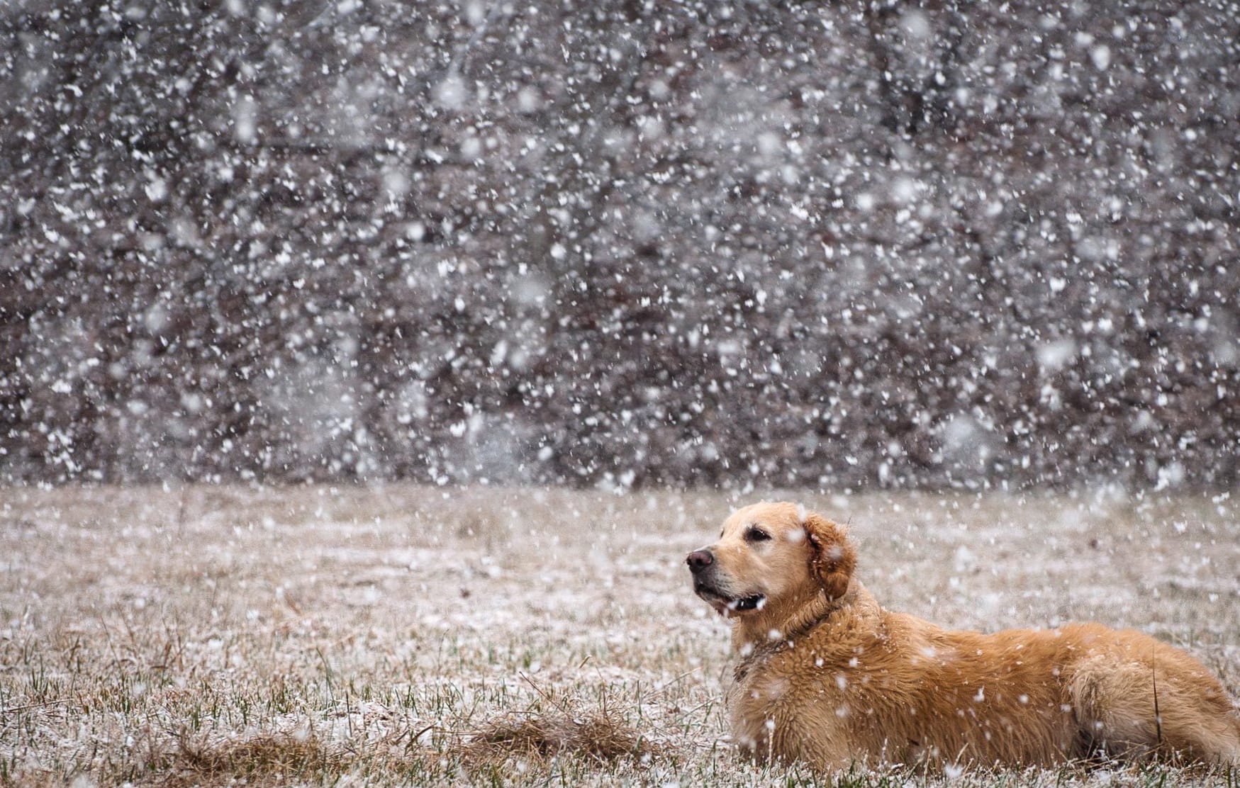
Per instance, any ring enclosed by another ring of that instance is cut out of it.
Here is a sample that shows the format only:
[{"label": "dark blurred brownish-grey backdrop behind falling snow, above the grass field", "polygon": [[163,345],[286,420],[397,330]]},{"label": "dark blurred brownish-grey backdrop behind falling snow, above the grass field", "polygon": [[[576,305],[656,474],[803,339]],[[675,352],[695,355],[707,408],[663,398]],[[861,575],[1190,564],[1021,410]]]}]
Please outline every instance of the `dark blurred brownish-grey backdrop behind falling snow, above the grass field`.
[{"label": "dark blurred brownish-grey backdrop behind falling snow, above the grass field", "polygon": [[1240,481],[1225,2],[17,0],[0,477]]}]

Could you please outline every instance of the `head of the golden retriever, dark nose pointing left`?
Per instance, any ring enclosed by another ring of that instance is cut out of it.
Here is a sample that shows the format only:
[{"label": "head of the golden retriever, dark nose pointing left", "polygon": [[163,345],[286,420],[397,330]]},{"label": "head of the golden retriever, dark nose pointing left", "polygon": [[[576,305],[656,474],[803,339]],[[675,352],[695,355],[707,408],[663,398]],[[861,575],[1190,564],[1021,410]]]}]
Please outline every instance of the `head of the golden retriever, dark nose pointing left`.
[{"label": "head of the golden retriever, dark nose pointing left", "polygon": [[831,520],[794,503],[756,503],[733,512],[719,540],[686,563],[699,597],[765,636],[812,600],[844,596],[857,554]]}]

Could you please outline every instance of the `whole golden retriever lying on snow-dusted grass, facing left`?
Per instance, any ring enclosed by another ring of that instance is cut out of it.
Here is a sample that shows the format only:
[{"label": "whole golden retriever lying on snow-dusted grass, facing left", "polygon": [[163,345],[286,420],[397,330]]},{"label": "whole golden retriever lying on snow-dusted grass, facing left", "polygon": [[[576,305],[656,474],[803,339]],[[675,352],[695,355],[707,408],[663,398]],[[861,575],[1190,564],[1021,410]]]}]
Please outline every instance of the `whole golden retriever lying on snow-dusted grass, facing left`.
[{"label": "whole golden retriever lying on snow-dusted grass, facing left", "polygon": [[1096,623],[983,634],[883,610],[846,530],[795,504],[734,512],[687,563],[732,621],[732,737],[759,760],[1240,763],[1240,705],[1187,653]]}]

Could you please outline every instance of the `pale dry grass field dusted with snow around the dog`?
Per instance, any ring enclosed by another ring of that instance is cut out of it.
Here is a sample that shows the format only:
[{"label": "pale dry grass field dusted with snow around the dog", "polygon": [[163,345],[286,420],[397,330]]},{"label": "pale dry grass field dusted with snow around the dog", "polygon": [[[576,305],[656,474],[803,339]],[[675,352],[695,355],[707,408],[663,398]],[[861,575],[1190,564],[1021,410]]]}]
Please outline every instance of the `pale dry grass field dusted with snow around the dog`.
[{"label": "pale dry grass field dusted with snow around the dog", "polygon": [[[420,487],[0,491],[0,784],[806,784],[739,760],[683,556],[768,496]],[[1099,619],[1240,690],[1226,496],[787,494],[888,607]],[[842,786],[1240,784],[1166,768]]]}]

